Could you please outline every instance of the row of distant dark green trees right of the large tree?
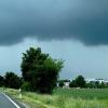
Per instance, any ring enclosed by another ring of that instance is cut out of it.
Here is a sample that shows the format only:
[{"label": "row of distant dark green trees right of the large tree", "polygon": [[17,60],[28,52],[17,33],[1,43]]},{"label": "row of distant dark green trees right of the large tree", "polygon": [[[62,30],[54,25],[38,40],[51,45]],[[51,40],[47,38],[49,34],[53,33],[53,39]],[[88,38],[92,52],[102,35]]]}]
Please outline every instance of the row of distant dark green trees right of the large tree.
[{"label": "row of distant dark green trees right of the large tree", "polygon": [[104,89],[108,87],[108,83],[99,83],[99,81],[86,82],[83,76],[78,76],[75,80],[58,80],[58,86],[64,87],[66,82],[69,82],[69,87],[81,87],[81,89]]}]

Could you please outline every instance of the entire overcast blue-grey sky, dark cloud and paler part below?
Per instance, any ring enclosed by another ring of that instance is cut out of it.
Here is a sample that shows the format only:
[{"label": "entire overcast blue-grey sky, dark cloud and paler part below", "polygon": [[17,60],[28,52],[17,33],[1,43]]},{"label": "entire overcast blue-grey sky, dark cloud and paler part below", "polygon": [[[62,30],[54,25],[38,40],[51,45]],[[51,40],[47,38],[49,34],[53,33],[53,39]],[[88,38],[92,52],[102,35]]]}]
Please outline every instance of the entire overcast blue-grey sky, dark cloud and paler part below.
[{"label": "entire overcast blue-grey sky, dark cloud and paler part below", "polygon": [[108,0],[0,0],[1,75],[29,46],[64,59],[60,78],[108,78]]}]

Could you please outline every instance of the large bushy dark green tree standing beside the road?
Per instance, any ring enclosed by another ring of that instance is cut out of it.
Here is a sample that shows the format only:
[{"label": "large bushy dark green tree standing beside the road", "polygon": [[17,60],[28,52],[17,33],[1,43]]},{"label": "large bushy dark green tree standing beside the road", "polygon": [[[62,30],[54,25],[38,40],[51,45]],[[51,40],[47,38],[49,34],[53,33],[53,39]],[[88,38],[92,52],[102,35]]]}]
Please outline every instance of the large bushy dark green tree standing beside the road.
[{"label": "large bushy dark green tree standing beside the road", "polygon": [[30,90],[52,93],[63,68],[63,60],[51,58],[49,54],[42,53],[40,48],[30,48],[23,53],[21,68],[24,80],[31,84]]}]

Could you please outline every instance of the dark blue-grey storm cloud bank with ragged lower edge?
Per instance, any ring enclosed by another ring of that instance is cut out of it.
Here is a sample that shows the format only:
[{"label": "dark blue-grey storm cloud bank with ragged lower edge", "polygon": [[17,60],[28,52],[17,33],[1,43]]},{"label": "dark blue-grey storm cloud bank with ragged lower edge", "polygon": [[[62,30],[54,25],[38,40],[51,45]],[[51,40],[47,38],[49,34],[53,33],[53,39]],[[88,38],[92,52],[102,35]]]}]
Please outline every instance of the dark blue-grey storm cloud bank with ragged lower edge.
[{"label": "dark blue-grey storm cloud bank with ragged lower edge", "polygon": [[1,0],[0,44],[25,38],[108,44],[108,0]]}]

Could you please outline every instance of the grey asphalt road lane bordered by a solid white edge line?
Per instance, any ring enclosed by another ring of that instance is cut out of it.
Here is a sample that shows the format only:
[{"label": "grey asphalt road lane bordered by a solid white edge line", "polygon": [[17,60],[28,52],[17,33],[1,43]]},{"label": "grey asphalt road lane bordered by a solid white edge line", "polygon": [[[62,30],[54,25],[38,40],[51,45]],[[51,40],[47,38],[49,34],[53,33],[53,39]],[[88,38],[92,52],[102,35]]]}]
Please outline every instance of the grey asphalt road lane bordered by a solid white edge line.
[{"label": "grey asphalt road lane bordered by a solid white edge line", "polygon": [[16,107],[4,94],[0,93],[0,108],[21,108],[21,107]]}]

